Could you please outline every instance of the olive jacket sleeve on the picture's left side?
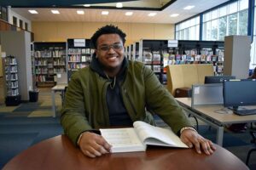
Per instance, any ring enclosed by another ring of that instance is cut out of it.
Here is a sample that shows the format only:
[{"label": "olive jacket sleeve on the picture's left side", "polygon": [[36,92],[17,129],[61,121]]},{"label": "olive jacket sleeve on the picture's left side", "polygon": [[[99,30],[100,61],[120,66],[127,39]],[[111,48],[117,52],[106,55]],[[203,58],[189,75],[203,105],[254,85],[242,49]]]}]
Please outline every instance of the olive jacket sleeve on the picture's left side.
[{"label": "olive jacket sleeve on the picture's left side", "polygon": [[61,109],[61,126],[64,129],[64,133],[75,145],[80,133],[92,129],[85,117],[84,92],[79,80],[79,74],[76,73],[73,74],[71,81],[68,83],[64,105]]}]

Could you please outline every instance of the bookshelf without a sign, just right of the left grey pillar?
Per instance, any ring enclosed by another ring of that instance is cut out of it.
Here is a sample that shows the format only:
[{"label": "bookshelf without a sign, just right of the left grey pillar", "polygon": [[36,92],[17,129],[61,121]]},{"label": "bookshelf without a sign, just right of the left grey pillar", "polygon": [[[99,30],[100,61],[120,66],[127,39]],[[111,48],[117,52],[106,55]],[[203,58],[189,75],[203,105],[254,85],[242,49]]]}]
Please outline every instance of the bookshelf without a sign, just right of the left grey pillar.
[{"label": "bookshelf without a sign, just right of the left grey pillar", "polygon": [[55,86],[55,76],[67,72],[66,42],[34,42],[33,74],[37,87]]}]

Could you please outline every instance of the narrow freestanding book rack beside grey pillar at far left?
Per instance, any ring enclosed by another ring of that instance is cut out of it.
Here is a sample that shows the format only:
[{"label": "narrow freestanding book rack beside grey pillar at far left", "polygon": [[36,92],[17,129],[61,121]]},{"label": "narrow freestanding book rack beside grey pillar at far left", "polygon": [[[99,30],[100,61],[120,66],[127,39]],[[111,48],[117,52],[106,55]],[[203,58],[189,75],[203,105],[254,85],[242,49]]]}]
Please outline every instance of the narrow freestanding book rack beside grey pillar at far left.
[{"label": "narrow freestanding book rack beside grey pillar at far left", "polygon": [[9,55],[5,57],[4,75],[6,84],[5,105],[20,105],[18,64],[15,56]]}]

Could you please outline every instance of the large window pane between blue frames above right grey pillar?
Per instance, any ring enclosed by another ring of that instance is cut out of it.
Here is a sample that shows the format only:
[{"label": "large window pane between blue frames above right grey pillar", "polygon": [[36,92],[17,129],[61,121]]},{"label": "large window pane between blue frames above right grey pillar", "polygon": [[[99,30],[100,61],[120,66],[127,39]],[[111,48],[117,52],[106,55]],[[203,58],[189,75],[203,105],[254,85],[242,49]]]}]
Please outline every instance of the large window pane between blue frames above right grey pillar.
[{"label": "large window pane between blue frames above right grey pillar", "polygon": [[225,36],[247,35],[248,0],[239,0],[203,14],[202,40],[224,41]]}]

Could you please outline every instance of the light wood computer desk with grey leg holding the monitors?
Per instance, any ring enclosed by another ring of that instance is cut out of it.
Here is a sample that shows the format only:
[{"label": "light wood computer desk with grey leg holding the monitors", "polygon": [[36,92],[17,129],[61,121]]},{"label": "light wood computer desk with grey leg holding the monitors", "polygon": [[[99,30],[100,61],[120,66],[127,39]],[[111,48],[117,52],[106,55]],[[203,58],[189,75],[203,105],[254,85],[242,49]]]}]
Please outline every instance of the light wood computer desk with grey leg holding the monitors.
[{"label": "light wood computer desk with grey leg holding the monitors", "polygon": [[[250,116],[237,116],[232,111],[229,113],[218,113],[223,105],[195,105],[191,107],[191,98],[176,98],[179,105],[189,114],[199,118],[201,121],[206,122],[212,127],[217,128],[216,143],[223,144],[224,125],[233,123],[256,122],[256,115]],[[255,108],[256,106],[251,106]]]}]

